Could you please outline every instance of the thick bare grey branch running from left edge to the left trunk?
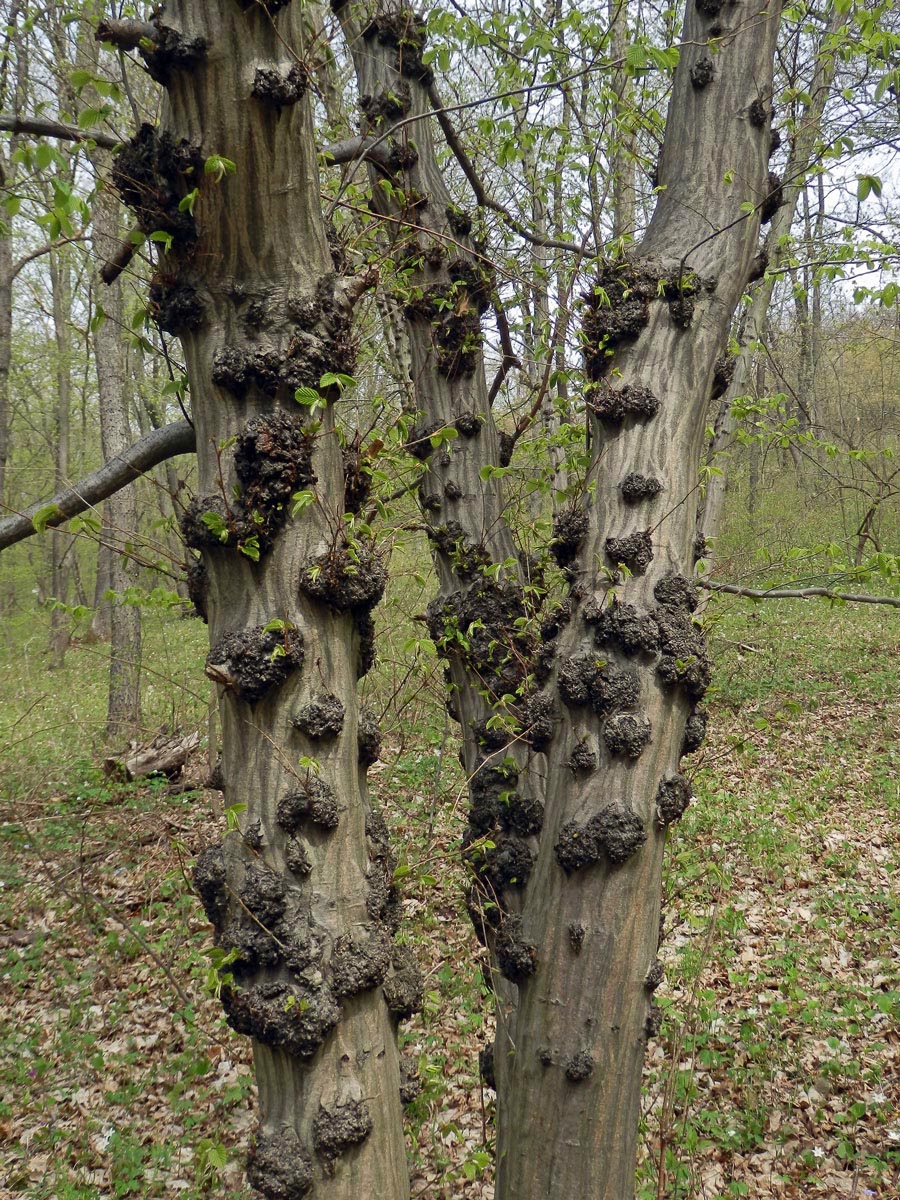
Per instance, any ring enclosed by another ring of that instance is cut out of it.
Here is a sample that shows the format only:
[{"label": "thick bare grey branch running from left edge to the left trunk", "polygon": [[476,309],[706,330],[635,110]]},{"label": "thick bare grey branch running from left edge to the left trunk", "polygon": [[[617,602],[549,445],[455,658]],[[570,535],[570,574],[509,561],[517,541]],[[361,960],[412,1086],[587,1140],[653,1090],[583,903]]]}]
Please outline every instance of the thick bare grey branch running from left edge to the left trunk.
[{"label": "thick bare grey branch running from left edge to the left trunk", "polygon": [[174,458],[179,454],[192,454],[196,449],[193,426],[187,421],[154,430],[74,486],[56,492],[49,500],[30,505],[24,512],[17,512],[0,521],[0,550],[6,550],[7,546],[13,546],[17,541],[24,541],[25,538],[37,533],[34,518],[38,512],[46,512],[50,505],[56,511],[50,514],[46,522],[47,527],[62,524],[70,517],[100,504],[157,463]]}]

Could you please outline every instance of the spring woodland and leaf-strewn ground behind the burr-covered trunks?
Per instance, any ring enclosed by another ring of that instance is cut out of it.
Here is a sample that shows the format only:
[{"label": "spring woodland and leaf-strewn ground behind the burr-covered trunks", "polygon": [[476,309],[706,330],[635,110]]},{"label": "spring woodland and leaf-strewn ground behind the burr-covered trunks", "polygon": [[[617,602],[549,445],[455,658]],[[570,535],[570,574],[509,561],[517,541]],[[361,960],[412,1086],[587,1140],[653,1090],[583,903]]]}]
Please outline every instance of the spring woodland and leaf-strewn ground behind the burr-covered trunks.
[{"label": "spring woodland and leaf-strewn ground behind the burr-covered trunks", "polygon": [[[238,1195],[253,1085],[190,886],[215,828],[239,818],[202,787],[216,730],[178,534],[190,460],[155,467],[130,506],[59,532],[43,503],[190,412],[176,343],[148,302],[154,235],[131,238],[97,187],[109,145],[152,119],[158,96],[137,54],[97,47],[110,16],[100,6],[4,7],[0,499],[13,514],[36,505],[41,532],[4,551],[0,598],[4,1172],[13,1195]],[[349,65],[331,18],[310,12],[329,31],[313,65],[320,144],[335,146],[354,132]],[[613,253],[647,222],[674,19],[650,5],[430,14],[428,53],[484,188],[479,235],[498,278],[486,355],[498,424],[517,434],[503,470],[523,547],[552,534],[583,472],[578,302],[599,247]],[[725,508],[701,580],[900,595],[896,54],[874,6],[787,13],[774,162],[796,196],[756,286],[770,284],[764,323],[748,331],[750,292],[733,331],[743,386],[709,413],[714,457],[698,486],[707,509],[716,497]],[[448,152],[445,167],[460,210],[472,208],[460,158]],[[229,169],[206,163],[211,180]],[[326,156],[322,180],[346,250],[384,270],[365,178]],[[103,238],[134,251],[120,308],[91,256]],[[422,1085],[408,1109],[413,1190],[490,1195],[478,1051],[491,1000],[462,902],[466,776],[421,620],[433,582],[410,498],[419,468],[403,451],[414,402],[384,275],[358,313],[354,380],[336,386],[348,424],[365,427],[370,412],[382,422],[368,448],[390,582],[365,697],[384,736],[371,786],[402,847],[406,928],[426,965],[424,1013],[402,1032]],[[104,371],[120,380],[118,412]],[[726,593],[704,620],[710,737],[667,851],[638,1194],[892,1195],[895,606]],[[161,730],[203,739],[184,779],[103,772],[107,755]]]}]

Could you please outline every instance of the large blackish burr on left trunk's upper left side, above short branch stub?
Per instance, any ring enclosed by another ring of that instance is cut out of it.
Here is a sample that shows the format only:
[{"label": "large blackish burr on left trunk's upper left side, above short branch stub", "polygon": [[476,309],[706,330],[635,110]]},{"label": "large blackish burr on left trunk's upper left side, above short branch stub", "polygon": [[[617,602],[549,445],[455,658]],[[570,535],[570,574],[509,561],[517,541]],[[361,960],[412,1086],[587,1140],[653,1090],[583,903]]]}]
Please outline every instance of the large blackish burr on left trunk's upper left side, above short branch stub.
[{"label": "large blackish burr on left trunk's upper left side, above short branch stub", "polygon": [[145,234],[161,230],[184,250],[197,239],[191,214],[180,209],[185,196],[203,182],[203,156],[197,146],[170,133],[142,125],[116,152],[113,186],[133,210]]}]

